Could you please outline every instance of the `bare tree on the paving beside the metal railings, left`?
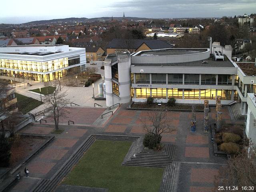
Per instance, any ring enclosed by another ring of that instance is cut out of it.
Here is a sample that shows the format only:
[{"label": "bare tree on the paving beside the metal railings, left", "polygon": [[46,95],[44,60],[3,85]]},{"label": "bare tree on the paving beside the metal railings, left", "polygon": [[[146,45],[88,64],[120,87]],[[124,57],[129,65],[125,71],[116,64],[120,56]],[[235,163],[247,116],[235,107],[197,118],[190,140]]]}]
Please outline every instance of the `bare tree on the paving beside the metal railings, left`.
[{"label": "bare tree on the paving beside the metal railings, left", "polygon": [[59,130],[59,119],[61,116],[65,116],[67,111],[64,107],[67,106],[69,100],[65,97],[67,96],[66,91],[60,91],[58,83],[52,83],[51,86],[56,87],[56,90],[52,94],[45,95],[42,99],[43,102],[50,107],[51,114],[49,118],[53,118],[55,124],[55,130]]}]

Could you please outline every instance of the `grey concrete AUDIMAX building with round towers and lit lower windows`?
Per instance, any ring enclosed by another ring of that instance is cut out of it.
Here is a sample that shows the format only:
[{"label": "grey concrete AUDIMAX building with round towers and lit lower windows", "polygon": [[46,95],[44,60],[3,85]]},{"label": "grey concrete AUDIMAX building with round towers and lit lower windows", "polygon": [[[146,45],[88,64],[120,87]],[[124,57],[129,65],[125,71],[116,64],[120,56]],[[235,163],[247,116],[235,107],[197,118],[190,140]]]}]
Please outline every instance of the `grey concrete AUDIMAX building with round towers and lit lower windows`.
[{"label": "grey concrete AUDIMAX building with round towers and lit lower windows", "polygon": [[237,64],[231,60],[231,49],[214,48],[109,54],[104,61],[107,106],[131,99],[146,102],[150,96],[154,102],[176,98],[184,104],[202,104],[206,99],[215,104],[216,96],[228,104],[244,97],[238,88],[241,79]]}]

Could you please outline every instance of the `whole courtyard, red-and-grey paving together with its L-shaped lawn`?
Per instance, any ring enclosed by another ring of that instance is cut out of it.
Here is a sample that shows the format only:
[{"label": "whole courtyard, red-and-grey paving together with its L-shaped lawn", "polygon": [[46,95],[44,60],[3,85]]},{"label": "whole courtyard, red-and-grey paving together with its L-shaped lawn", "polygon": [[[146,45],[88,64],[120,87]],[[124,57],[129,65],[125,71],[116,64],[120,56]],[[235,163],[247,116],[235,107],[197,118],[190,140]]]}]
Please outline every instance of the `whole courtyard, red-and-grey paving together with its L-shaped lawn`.
[{"label": "whole courtyard, red-and-grey paving together with its L-shaped lawn", "polygon": [[[106,118],[102,126],[94,126],[94,122],[104,113],[104,108],[70,108],[68,115],[76,118],[79,124],[60,125],[64,132],[54,134],[54,140],[36,154],[32,160],[24,164],[30,169],[31,178],[22,177],[21,181],[10,191],[28,192],[44,180],[48,180],[50,183],[54,176],[58,176],[63,171],[63,167],[71,163],[70,158],[77,156],[79,149],[83,148],[84,143],[90,139],[92,134],[109,137],[112,135],[144,136],[145,131],[142,122],[146,121],[149,124],[148,111],[127,110],[127,106],[123,104],[114,112],[113,116]],[[214,122],[214,112],[214,107],[211,107],[209,122]],[[227,107],[224,107],[222,112],[223,124],[241,123],[232,120]],[[203,112],[196,112],[196,133],[190,132],[191,112],[169,111],[167,116],[172,127],[176,130],[172,133],[163,134],[162,142],[176,146],[173,159],[178,170],[175,174],[174,183],[176,191],[210,192],[214,188],[214,176],[218,175],[219,168],[226,164],[226,158],[214,155],[211,134],[203,131]],[[66,120],[64,119],[65,122]],[[53,129],[53,122],[47,121],[47,124],[33,123],[20,132],[53,135],[51,133]],[[136,190],[132,191],[145,191],[143,189],[159,191],[163,181],[164,168],[122,166],[122,161],[131,143],[112,140],[98,141],[96,139],[90,148],[87,147],[85,153],[79,152],[80,158],[75,161],[72,160],[75,163],[68,170],[65,170],[65,174],[62,173],[63,176],[66,176],[64,182],[54,190],[59,192],[70,188],[80,190],[88,188],[101,191],[129,191],[133,188]],[[70,171],[71,168],[72,171]],[[60,183],[61,178],[57,181],[56,184]],[[26,183],[27,188],[21,190],[20,185],[24,183]],[[155,188],[151,186],[152,183],[154,183]]]}]

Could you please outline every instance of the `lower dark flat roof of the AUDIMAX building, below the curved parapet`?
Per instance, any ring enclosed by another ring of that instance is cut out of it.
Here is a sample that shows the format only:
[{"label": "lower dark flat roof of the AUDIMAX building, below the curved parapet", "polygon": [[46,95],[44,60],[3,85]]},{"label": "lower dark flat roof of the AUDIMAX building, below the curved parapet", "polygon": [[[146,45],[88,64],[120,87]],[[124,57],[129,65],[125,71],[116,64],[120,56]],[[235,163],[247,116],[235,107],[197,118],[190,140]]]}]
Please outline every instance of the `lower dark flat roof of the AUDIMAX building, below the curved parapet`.
[{"label": "lower dark flat roof of the AUDIMAX building, below the curved parapet", "polygon": [[183,62],[183,63],[132,63],[133,66],[164,66],[164,67],[235,67],[232,62],[224,56],[223,60],[215,60],[211,55],[210,58],[205,60],[193,61],[193,62]]}]

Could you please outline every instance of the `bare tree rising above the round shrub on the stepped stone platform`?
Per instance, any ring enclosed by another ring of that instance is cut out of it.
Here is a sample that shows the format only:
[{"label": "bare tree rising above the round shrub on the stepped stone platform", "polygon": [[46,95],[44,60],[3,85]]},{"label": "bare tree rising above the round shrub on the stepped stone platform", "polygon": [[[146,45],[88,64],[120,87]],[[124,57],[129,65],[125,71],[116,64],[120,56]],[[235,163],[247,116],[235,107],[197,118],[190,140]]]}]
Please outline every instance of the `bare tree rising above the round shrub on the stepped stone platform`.
[{"label": "bare tree rising above the round shrub on the stepped stone platform", "polygon": [[[161,134],[166,132],[173,132],[176,130],[171,121],[167,118],[167,111],[153,111],[148,112],[148,119],[150,125],[147,124],[146,118],[144,119],[144,130],[154,136],[154,146],[161,141]],[[143,120],[142,120],[143,121]],[[159,141],[160,138],[160,141]]]}]

